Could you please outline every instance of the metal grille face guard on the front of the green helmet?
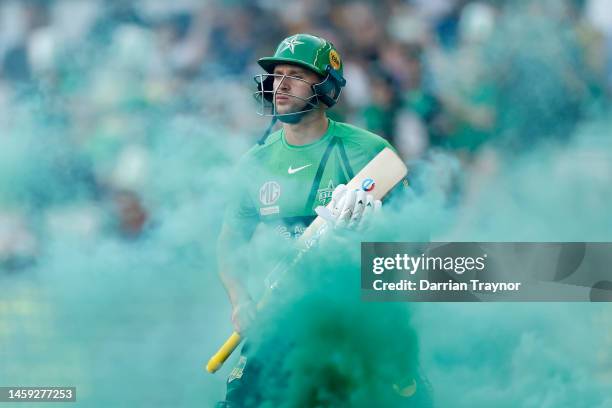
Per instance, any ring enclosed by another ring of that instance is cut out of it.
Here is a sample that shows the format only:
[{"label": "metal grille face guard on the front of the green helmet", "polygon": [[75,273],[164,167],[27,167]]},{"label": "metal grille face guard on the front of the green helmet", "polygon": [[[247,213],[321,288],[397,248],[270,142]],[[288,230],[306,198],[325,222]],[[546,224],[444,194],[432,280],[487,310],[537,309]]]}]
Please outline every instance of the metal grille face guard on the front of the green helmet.
[{"label": "metal grille face guard on the front of the green helmet", "polygon": [[[275,78],[280,78],[276,89],[274,89]],[[283,123],[293,124],[298,123],[308,112],[318,109],[319,96],[317,95],[316,86],[319,84],[311,84],[302,78],[279,74],[260,74],[256,75],[254,79],[255,83],[257,84],[257,91],[253,93],[253,96],[259,105],[257,114],[260,116],[274,117]],[[286,80],[300,81],[308,84],[312,91],[312,95],[307,98],[302,98],[300,96],[281,91],[280,89],[282,88],[283,82]],[[277,95],[283,95],[288,98],[293,98],[294,100],[299,100],[303,104],[300,108],[293,112],[279,113],[275,103]]]}]

